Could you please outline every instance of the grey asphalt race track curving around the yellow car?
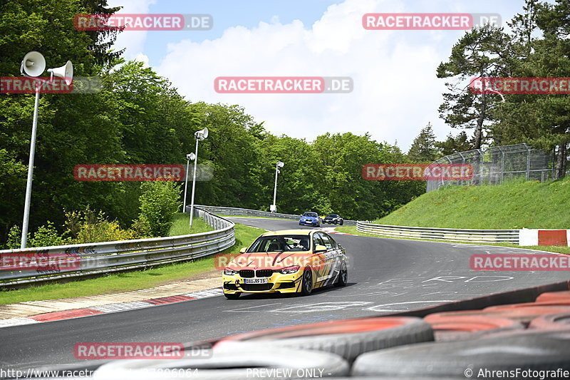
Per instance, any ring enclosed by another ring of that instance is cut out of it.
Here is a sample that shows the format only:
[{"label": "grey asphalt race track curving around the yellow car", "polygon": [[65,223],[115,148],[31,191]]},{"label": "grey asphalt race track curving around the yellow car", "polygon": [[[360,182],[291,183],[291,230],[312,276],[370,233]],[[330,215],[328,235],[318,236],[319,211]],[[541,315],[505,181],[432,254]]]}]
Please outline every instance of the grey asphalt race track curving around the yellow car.
[{"label": "grey asphalt race track curving around the yellow car", "polygon": [[[266,230],[299,228],[291,220],[232,220]],[[528,250],[352,235],[333,237],[350,257],[347,287],[320,289],[309,297],[254,294],[234,301],[212,297],[5,327],[0,329],[0,367],[28,369],[73,363],[77,342],[194,342],[254,329],[371,317],[568,278],[565,272],[470,270],[472,254]]]}]

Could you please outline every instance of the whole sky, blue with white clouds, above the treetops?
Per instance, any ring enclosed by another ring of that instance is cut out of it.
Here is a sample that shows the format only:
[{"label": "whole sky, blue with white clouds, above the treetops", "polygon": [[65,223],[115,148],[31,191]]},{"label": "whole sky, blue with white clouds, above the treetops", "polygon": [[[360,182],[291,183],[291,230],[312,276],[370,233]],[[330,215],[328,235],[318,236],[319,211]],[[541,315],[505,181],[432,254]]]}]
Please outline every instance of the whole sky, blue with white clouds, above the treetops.
[{"label": "whole sky, blue with white clouds, above the treetops", "polygon": [[[210,14],[208,31],[124,31],[125,58],[145,61],[190,101],[239,104],[276,135],[312,140],[371,133],[408,150],[428,122],[437,138],[457,133],[439,118],[445,91],[437,65],[465,31],[371,31],[367,13],[500,14],[523,0],[110,0],[125,14]],[[218,76],[349,76],[351,93],[229,94]]]}]

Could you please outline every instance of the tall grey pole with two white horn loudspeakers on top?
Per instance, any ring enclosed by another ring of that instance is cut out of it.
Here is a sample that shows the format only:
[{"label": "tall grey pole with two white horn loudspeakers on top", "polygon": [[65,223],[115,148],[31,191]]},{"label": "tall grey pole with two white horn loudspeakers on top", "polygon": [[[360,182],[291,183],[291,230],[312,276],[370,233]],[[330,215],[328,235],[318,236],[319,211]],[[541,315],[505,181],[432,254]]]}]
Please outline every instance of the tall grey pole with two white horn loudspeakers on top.
[{"label": "tall grey pole with two white horn loudspeakers on top", "polygon": [[[38,51],[30,51],[24,56],[20,66],[20,73],[23,76],[36,77],[46,69],[46,58],[43,58]],[[63,78],[68,86],[73,81],[73,64],[71,61],[58,68],[48,68],[50,73],[50,80],[53,81],[53,76]],[[26,182],[26,202],[24,203],[24,220],[22,222],[22,239],[20,247],[26,248],[28,240],[28,223],[30,220],[30,201],[31,201],[31,181],[33,179],[33,158],[36,153],[36,132],[38,130],[38,103],[40,101],[41,83],[48,83],[43,79],[38,78],[36,82],[36,101],[33,105],[33,122],[31,125],[31,138],[30,138],[30,160],[28,162],[28,180]]]}]

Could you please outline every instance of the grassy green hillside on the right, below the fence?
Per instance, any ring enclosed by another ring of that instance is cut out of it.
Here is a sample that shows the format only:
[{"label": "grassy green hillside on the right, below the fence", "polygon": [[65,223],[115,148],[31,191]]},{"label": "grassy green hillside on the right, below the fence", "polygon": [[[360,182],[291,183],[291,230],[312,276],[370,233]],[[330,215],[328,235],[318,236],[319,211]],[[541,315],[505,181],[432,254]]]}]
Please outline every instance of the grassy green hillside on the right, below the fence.
[{"label": "grassy green hillside on the right, below the fence", "polygon": [[477,229],[570,229],[570,178],[549,183],[448,186],[416,198],[380,220],[385,225]]}]

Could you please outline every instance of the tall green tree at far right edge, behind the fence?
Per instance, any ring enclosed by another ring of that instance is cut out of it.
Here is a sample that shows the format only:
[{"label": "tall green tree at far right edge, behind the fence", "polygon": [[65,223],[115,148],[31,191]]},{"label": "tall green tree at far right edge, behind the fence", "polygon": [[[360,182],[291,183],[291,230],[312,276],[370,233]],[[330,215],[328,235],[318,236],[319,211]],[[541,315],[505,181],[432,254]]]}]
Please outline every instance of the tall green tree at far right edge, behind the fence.
[{"label": "tall green tree at far right edge, behind the fence", "polygon": [[[569,77],[570,1],[527,0],[523,10],[509,24],[517,52],[513,76]],[[555,150],[556,177],[561,178],[570,143],[570,101],[566,95],[510,95],[497,112],[492,134],[497,144],[526,142]]]}]

